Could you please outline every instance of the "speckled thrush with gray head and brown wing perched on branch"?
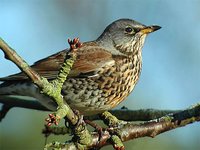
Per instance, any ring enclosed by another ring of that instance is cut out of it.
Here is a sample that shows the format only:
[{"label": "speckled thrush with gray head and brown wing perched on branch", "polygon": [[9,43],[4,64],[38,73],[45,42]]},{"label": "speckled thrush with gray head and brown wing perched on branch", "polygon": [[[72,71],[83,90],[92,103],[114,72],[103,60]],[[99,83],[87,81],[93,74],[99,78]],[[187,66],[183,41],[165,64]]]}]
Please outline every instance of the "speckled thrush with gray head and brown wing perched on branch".
[{"label": "speckled thrush with gray head and brown wing perched on branch", "polygon": [[[83,42],[65,80],[64,101],[82,115],[102,113],[116,107],[133,91],[142,69],[142,47],[158,25],[146,26],[122,18],[108,25],[93,41]],[[35,62],[31,68],[49,81],[55,79],[69,48]],[[43,95],[23,73],[0,78],[1,96],[28,96],[55,111],[56,103]]]}]

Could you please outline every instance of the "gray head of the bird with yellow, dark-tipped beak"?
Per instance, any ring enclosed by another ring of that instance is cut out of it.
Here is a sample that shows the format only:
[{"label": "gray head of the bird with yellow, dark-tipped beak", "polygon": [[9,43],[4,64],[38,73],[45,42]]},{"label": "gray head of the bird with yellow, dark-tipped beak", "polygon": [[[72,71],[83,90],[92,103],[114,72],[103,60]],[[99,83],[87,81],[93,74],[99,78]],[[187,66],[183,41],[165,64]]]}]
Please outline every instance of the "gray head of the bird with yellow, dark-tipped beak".
[{"label": "gray head of the bird with yellow, dark-tipped beak", "polygon": [[160,28],[145,26],[131,19],[119,19],[107,26],[97,41],[124,54],[136,53],[142,49],[146,35]]}]

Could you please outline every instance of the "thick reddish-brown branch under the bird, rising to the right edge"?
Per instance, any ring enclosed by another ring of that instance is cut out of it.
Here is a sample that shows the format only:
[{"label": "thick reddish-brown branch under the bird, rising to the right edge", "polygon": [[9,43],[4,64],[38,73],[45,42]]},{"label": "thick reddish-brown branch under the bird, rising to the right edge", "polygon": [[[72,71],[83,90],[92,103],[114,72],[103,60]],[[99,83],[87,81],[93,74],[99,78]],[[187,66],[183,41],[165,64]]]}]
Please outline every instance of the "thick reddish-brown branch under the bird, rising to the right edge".
[{"label": "thick reddish-brown branch under the bird, rising to the right edge", "polygon": [[[117,135],[122,142],[140,137],[155,137],[166,131],[186,126],[190,123],[200,121],[200,104],[197,104],[189,109],[182,110],[177,113],[168,114],[166,116],[147,121],[140,124],[133,122],[119,122],[115,128],[110,128],[103,131],[100,141],[98,141],[98,133],[92,133],[92,143],[87,146],[87,149],[96,147],[101,148],[110,144],[109,139],[112,135]],[[97,144],[99,143],[99,144]],[[56,146],[62,147],[63,150],[76,147],[75,143],[51,143],[48,145],[51,148]]]}]

